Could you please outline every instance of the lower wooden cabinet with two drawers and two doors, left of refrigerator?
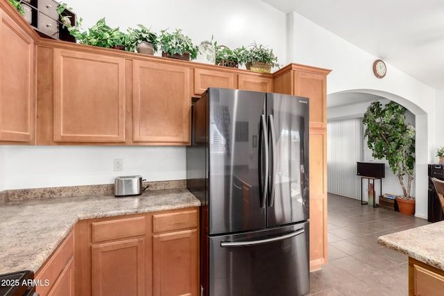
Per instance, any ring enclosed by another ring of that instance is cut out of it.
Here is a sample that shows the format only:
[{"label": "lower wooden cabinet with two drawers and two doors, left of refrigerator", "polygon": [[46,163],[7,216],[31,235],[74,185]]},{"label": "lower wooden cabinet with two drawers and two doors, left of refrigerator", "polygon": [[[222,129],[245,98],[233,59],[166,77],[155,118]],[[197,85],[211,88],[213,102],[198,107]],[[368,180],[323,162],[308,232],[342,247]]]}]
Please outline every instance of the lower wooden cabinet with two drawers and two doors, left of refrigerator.
[{"label": "lower wooden cabinet with two drawers and two doors, left of refrigerator", "polygon": [[198,208],[78,221],[76,293],[198,295]]}]

